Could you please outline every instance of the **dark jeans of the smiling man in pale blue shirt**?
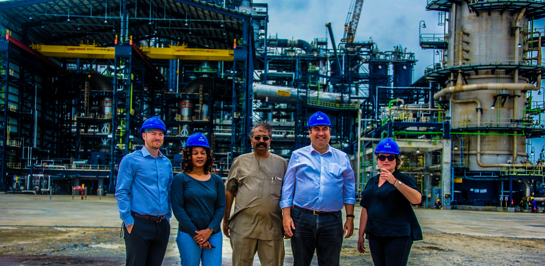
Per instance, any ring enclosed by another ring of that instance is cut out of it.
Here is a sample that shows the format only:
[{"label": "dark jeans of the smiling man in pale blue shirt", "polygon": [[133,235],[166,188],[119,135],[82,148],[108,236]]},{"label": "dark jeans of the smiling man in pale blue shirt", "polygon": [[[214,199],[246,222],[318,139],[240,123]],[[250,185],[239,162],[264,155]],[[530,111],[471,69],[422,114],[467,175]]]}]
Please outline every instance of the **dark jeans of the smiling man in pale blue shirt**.
[{"label": "dark jeans of the smiling man in pale blue shirt", "polygon": [[314,215],[293,208],[293,265],[308,266],[318,256],[318,265],[339,265],[343,226],[341,211],[325,215]]}]

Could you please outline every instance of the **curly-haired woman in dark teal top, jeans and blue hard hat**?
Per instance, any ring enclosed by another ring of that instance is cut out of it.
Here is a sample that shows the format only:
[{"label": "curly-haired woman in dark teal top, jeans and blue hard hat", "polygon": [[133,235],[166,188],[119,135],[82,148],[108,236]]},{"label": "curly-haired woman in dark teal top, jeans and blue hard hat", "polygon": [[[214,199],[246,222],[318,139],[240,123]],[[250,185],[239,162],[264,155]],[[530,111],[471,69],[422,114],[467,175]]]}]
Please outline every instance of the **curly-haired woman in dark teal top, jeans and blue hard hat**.
[{"label": "curly-haired woman in dark teal top, jeans and blue hard hat", "polygon": [[221,219],[225,186],[212,174],[214,157],[208,140],[192,134],[182,150],[181,173],[171,186],[172,212],[179,222],[176,243],[181,265],[221,265]]}]

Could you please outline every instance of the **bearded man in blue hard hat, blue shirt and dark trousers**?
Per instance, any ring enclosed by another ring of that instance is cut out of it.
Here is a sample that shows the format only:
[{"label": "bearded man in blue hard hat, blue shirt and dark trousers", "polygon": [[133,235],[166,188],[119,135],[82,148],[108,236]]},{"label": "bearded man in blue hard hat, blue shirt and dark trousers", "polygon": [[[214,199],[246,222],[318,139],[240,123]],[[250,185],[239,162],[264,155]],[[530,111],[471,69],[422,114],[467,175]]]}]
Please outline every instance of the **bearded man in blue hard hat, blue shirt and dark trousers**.
[{"label": "bearded man in blue hard hat, blue shirt and dark trousers", "polygon": [[144,121],[141,150],[119,164],[116,199],[123,220],[126,265],[161,265],[170,236],[172,164],[159,148],[167,131],[157,116]]}]

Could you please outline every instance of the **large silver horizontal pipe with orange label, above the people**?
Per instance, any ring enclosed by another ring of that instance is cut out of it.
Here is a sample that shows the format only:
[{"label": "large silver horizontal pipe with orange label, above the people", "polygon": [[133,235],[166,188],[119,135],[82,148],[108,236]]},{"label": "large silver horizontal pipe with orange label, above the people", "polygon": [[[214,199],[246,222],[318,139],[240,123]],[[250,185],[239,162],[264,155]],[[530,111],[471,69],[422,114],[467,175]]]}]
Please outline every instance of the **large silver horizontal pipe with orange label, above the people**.
[{"label": "large silver horizontal pipe with orange label, above the people", "polygon": [[[296,103],[297,102],[296,88],[283,86],[273,86],[261,83],[253,83],[254,98],[257,100],[267,100],[272,102]],[[299,89],[301,93],[305,90]],[[325,103],[341,103],[341,94],[334,92],[323,92],[310,90],[308,91],[308,100],[320,101]],[[352,104],[360,104],[361,100],[351,100]]]}]

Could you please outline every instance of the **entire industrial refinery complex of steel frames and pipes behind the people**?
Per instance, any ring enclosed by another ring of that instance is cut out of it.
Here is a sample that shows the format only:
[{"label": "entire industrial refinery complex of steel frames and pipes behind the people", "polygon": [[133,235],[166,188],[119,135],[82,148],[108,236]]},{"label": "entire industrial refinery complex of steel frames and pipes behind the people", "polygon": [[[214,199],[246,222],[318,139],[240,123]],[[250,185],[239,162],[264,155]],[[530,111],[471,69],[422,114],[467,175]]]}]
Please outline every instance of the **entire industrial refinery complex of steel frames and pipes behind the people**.
[{"label": "entire industrial refinery complex of steel frames and pipes behind the people", "polygon": [[268,4],[249,0],[1,2],[0,190],[112,193],[151,116],[166,122],[175,173],[187,137],[203,132],[225,177],[251,151],[253,124],[271,123],[271,152],[289,159],[322,110],[359,189],[377,172],[374,145],[391,137],[426,207],[543,201],[545,151],[529,141],[545,133],[531,93],[545,92],[533,24],[545,1],[428,0],[445,31],[420,34],[439,58],[423,76],[414,53],[355,38],[364,7],[355,1],[336,42],[342,25],[313,40],[269,33]]}]

